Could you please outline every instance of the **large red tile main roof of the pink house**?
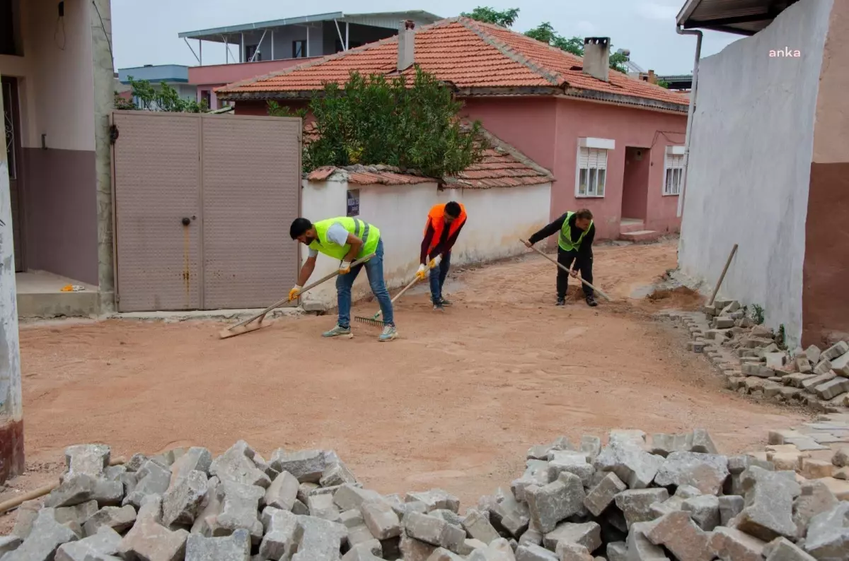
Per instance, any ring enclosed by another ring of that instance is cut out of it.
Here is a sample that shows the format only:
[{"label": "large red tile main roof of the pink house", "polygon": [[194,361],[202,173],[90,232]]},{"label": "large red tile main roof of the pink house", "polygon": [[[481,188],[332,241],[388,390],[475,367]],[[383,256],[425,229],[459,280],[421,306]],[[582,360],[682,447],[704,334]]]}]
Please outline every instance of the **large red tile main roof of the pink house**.
[{"label": "large red tile main roof of the pink house", "polygon": [[[396,73],[397,36],[348,52],[216,89],[222,99],[310,97],[325,82],[345,83],[351,71]],[[582,71],[582,58],[498,25],[467,18],[443,19],[420,28],[415,63],[450,82],[460,95],[565,93],[619,103],[686,111],[688,97],[610,71],[601,81]],[[403,74],[412,75],[414,69]]]}]

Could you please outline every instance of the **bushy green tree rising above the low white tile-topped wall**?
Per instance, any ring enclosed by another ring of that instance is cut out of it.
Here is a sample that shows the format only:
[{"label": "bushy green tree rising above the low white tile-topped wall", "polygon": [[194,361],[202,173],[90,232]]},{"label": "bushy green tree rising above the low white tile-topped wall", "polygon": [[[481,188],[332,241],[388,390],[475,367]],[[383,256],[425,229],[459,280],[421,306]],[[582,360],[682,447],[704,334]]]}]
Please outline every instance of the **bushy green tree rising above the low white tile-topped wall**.
[{"label": "bushy green tree rising above the low white tile-topped wall", "polygon": [[[463,103],[421,69],[413,83],[404,76],[387,80],[352,72],[344,88],[330,82],[313,97],[317,139],[305,143],[304,169],[324,165],[385,164],[430,177],[456,175],[481,160],[477,121],[460,123]],[[291,115],[277,103],[269,114]]]}]

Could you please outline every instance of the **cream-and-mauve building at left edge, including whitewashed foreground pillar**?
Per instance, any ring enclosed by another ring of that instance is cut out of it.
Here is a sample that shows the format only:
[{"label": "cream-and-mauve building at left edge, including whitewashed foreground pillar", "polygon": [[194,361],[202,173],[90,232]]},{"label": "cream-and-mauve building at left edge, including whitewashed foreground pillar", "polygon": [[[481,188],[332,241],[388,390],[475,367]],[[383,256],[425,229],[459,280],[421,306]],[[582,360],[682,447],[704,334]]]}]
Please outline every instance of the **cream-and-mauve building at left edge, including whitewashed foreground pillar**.
[{"label": "cream-and-mauve building at left edge, including whitewashed foreground pillar", "polygon": [[[0,483],[25,468],[17,325],[9,316],[15,308],[42,317],[97,314],[99,297],[110,303],[114,292],[111,35],[110,0],[0,1]],[[64,283],[87,290],[60,292]]]}]

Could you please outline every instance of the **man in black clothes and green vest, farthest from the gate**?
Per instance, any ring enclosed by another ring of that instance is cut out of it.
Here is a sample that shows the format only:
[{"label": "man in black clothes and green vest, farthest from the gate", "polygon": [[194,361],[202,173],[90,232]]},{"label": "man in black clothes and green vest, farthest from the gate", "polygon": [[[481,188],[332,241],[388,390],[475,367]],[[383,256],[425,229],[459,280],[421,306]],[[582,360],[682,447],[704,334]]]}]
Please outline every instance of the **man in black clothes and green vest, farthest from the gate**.
[{"label": "man in black clothes and green vest, farthest from the gate", "polygon": [[[593,238],[595,237],[595,225],[593,225],[593,213],[587,208],[577,212],[567,212],[559,219],[545,226],[542,230],[528,239],[526,246],[533,244],[559,232],[557,240],[557,262],[567,269],[571,269],[575,263],[576,269],[581,271],[581,278],[593,284]],[[563,269],[557,269],[557,305],[566,303],[566,288],[569,284],[569,275],[577,277],[577,272],[571,270],[567,274]],[[589,306],[598,306],[593,289],[583,285],[584,297],[587,298]]]}]

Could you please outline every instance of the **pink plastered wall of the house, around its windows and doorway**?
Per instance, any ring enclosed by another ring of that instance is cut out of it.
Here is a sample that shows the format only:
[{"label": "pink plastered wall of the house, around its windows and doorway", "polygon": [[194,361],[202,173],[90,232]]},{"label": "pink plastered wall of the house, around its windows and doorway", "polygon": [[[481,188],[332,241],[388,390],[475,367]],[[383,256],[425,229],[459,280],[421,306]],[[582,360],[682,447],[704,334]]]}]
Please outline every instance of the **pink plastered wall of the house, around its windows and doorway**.
[{"label": "pink plastered wall of the house, around its windows and doorway", "polygon": [[[471,97],[464,116],[480,119],[487,131],[509,142],[537,164],[554,173],[552,219],[567,210],[589,208],[596,215],[600,239],[619,236],[625,147],[650,148],[645,228],[678,231],[678,197],[664,197],[666,146],[683,145],[686,114],[666,114],[604,103],[554,97]],[[616,148],[608,154],[604,197],[575,197],[578,138],[609,138]]]}]

